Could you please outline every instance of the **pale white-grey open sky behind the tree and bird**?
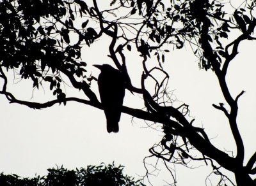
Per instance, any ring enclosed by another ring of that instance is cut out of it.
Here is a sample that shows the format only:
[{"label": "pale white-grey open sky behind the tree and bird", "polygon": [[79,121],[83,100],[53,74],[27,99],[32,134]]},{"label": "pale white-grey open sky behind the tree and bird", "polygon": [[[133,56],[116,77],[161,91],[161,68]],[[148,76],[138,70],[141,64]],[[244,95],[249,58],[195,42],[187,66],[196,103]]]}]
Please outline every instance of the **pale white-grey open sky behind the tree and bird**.
[{"label": "pale white-grey open sky behind the tree and bird", "polygon": [[[99,74],[99,71],[93,68],[92,64],[113,65],[107,57],[107,41],[108,38],[99,41],[99,44],[92,46],[90,50],[83,49],[88,71],[95,75]],[[237,118],[246,149],[246,160],[256,150],[256,64],[253,56],[255,47],[253,41],[243,42],[239,47],[239,55],[230,64],[227,75],[232,96],[236,96],[241,90],[246,91],[239,99]],[[227,119],[221,111],[212,107],[212,103],[225,103],[214,73],[198,68],[198,60],[188,46],[175,51],[171,47],[166,49],[171,50],[170,54],[166,55],[166,62],[163,65],[170,74],[169,89],[174,90],[173,94],[180,104],[189,104],[190,115],[196,119],[194,124],[205,128],[216,147],[220,150],[233,150],[236,154]],[[134,50],[125,54],[132,82],[139,87],[141,59],[134,55]],[[15,92],[15,96],[26,100],[51,99],[51,92],[47,91],[47,87],[32,92],[32,83],[12,80],[12,72],[9,76],[9,90]],[[0,80],[0,85],[1,83]],[[93,83],[92,89],[97,90],[97,82]],[[83,98],[82,92],[77,90],[67,87],[67,92],[70,96]],[[150,155],[148,148],[161,140],[161,132],[147,127],[143,120],[126,114],[122,114],[120,132],[109,134],[106,131],[104,112],[81,103],[54,105],[44,110],[9,104],[4,96],[0,96],[0,103],[0,172],[3,171],[5,174],[15,173],[25,177],[45,175],[47,168],[56,165],[74,169],[115,161],[116,165],[125,166],[125,174],[140,178],[140,175],[145,174],[143,158]],[[143,100],[140,96],[127,91],[124,105],[143,108]],[[155,161],[154,158],[149,160]],[[211,167],[205,166],[203,162],[191,164],[200,167],[184,169],[175,166],[178,185],[205,185],[205,178],[211,173]],[[157,176],[150,177],[153,185],[164,185],[164,180],[172,183],[170,173],[164,168]],[[213,176],[212,182],[214,180]],[[206,182],[209,185],[209,181]]]}]

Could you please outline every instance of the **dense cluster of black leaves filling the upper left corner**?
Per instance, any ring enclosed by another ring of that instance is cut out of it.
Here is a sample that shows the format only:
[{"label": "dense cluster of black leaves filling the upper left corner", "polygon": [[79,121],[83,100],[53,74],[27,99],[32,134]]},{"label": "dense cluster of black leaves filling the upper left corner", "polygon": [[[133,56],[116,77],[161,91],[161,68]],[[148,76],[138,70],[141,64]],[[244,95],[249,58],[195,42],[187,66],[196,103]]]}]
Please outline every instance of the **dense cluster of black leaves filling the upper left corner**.
[{"label": "dense cluster of black leaves filling the upper left corner", "polygon": [[[80,0],[73,1],[72,6],[62,0],[1,1],[0,66],[7,71],[13,69],[21,79],[31,79],[37,89],[42,82],[50,82],[58,100],[65,99],[61,69],[92,81],[86,78],[86,63],[80,60],[80,44],[86,38],[73,25],[77,13],[82,15],[86,11],[87,5]],[[86,25],[82,27],[85,29]],[[88,28],[84,35],[95,36],[92,31]],[[70,34],[77,34],[79,41],[70,43]]]}]

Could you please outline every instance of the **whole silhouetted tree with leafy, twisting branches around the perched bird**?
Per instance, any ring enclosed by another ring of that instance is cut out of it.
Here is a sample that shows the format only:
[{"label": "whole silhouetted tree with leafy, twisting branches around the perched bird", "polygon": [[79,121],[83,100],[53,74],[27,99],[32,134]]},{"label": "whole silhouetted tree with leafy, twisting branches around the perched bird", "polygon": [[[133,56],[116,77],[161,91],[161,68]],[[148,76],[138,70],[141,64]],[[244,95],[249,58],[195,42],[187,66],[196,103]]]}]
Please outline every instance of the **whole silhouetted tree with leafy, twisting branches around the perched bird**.
[{"label": "whole silhouetted tree with leafy, twisting branches around the perched bird", "polygon": [[[186,165],[188,161],[205,161],[221,183],[234,184],[220,168],[236,176],[237,185],[255,185],[250,175],[256,174],[256,152],[244,162],[244,144],[237,127],[238,100],[230,94],[226,75],[228,67],[245,40],[255,40],[255,1],[244,1],[239,8],[228,1],[213,0],[120,0],[100,9],[96,0],[4,0],[0,3],[0,94],[10,103],[42,109],[54,104],[76,101],[102,109],[91,89],[97,78],[87,72],[83,47],[97,45],[104,37],[109,59],[125,78],[125,89],[143,97],[145,108],[122,106],[132,117],[162,125],[163,140],[150,148],[150,153],[164,162]],[[103,6],[102,6],[103,7]],[[227,117],[234,140],[234,157],[214,147],[202,127],[193,125],[188,104],[176,104],[168,92],[170,75],[163,68],[168,48],[177,50],[190,46],[198,57],[199,68],[213,71],[220,84],[225,103],[212,104]],[[132,82],[127,66],[127,52],[140,55],[140,87]],[[154,61],[154,64],[148,61]],[[32,89],[44,87],[56,99],[37,103],[19,99],[8,90],[10,75],[32,81]],[[156,75],[157,73],[157,75]],[[149,87],[147,82],[153,83]],[[84,97],[69,97],[65,85],[82,90]],[[202,157],[194,157],[196,148]],[[166,168],[168,168],[166,166]],[[172,173],[172,171],[171,171]],[[173,183],[176,183],[173,176]]]}]

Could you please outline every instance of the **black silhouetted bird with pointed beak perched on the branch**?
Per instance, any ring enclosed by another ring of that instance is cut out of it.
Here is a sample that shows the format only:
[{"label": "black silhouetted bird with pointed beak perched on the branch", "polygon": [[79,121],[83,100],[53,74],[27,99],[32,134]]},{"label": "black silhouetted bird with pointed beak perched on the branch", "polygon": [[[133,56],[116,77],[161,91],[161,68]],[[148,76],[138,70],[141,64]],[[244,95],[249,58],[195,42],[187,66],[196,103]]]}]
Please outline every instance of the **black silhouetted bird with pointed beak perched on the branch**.
[{"label": "black silhouetted bird with pointed beak perched on the branch", "polygon": [[109,64],[93,65],[101,73],[98,78],[100,100],[107,120],[107,131],[118,132],[118,122],[125,95],[125,80],[121,71]]}]

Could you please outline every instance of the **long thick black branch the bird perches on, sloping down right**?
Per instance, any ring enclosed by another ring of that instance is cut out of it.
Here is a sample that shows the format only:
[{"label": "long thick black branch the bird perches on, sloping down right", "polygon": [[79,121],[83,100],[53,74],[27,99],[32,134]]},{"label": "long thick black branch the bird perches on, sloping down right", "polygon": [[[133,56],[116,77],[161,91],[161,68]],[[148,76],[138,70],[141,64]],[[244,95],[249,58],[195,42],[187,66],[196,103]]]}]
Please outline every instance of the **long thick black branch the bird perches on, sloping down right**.
[{"label": "long thick black branch the bird perches on, sloping down right", "polygon": [[[10,103],[18,103],[23,104],[26,106],[29,106],[30,108],[34,109],[41,109],[41,108],[47,108],[54,104],[61,103],[60,100],[52,100],[48,101],[46,103],[36,103],[36,102],[29,102],[29,101],[21,101],[19,99],[15,99],[15,97],[10,92],[3,92],[1,91],[0,94],[6,95],[8,97],[8,100]],[[102,104],[99,103],[99,101],[92,101],[92,100],[84,100],[79,99],[77,97],[67,97],[66,99],[61,100],[63,101],[76,101],[78,103],[88,104],[90,106],[93,106],[95,108],[99,108],[102,110]],[[173,111],[175,108],[173,108]],[[190,141],[191,145],[193,145],[197,150],[202,152],[202,154],[207,155],[208,157],[214,159],[217,161],[221,166],[228,170],[234,169],[234,158],[229,157],[225,152],[222,152],[221,150],[218,150],[218,148],[214,147],[210,142],[209,139],[205,139],[200,134],[198,134],[198,130],[194,129],[192,125],[187,125],[186,127],[182,127],[182,122],[188,122],[184,116],[180,113],[178,120],[179,122],[176,122],[175,120],[171,120],[168,117],[164,117],[163,115],[159,115],[156,113],[149,113],[147,111],[143,111],[140,109],[134,109],[129,108],[127,106],[122,106],[122,112],[127,113],[128,115],[131,115],[132,117],[137,117],[143,120],[148,120],[152,122],[158,122],[164,125],[168,125],[172,129],[175,129],[177,131],[181,131],[182,135],[185,135],[188,140]],[[176,114],[179,111],[176,111]],[[182,118],[180,118],[182,117]],[[185,121],[186,120],[186,121]],[[181,122],[181,123],[180,123]],[[189,127],[190,126],[190,127]],[[202,132],[202,131],[200,131]],[[203,134],[204,136],[204,134]]]}]

